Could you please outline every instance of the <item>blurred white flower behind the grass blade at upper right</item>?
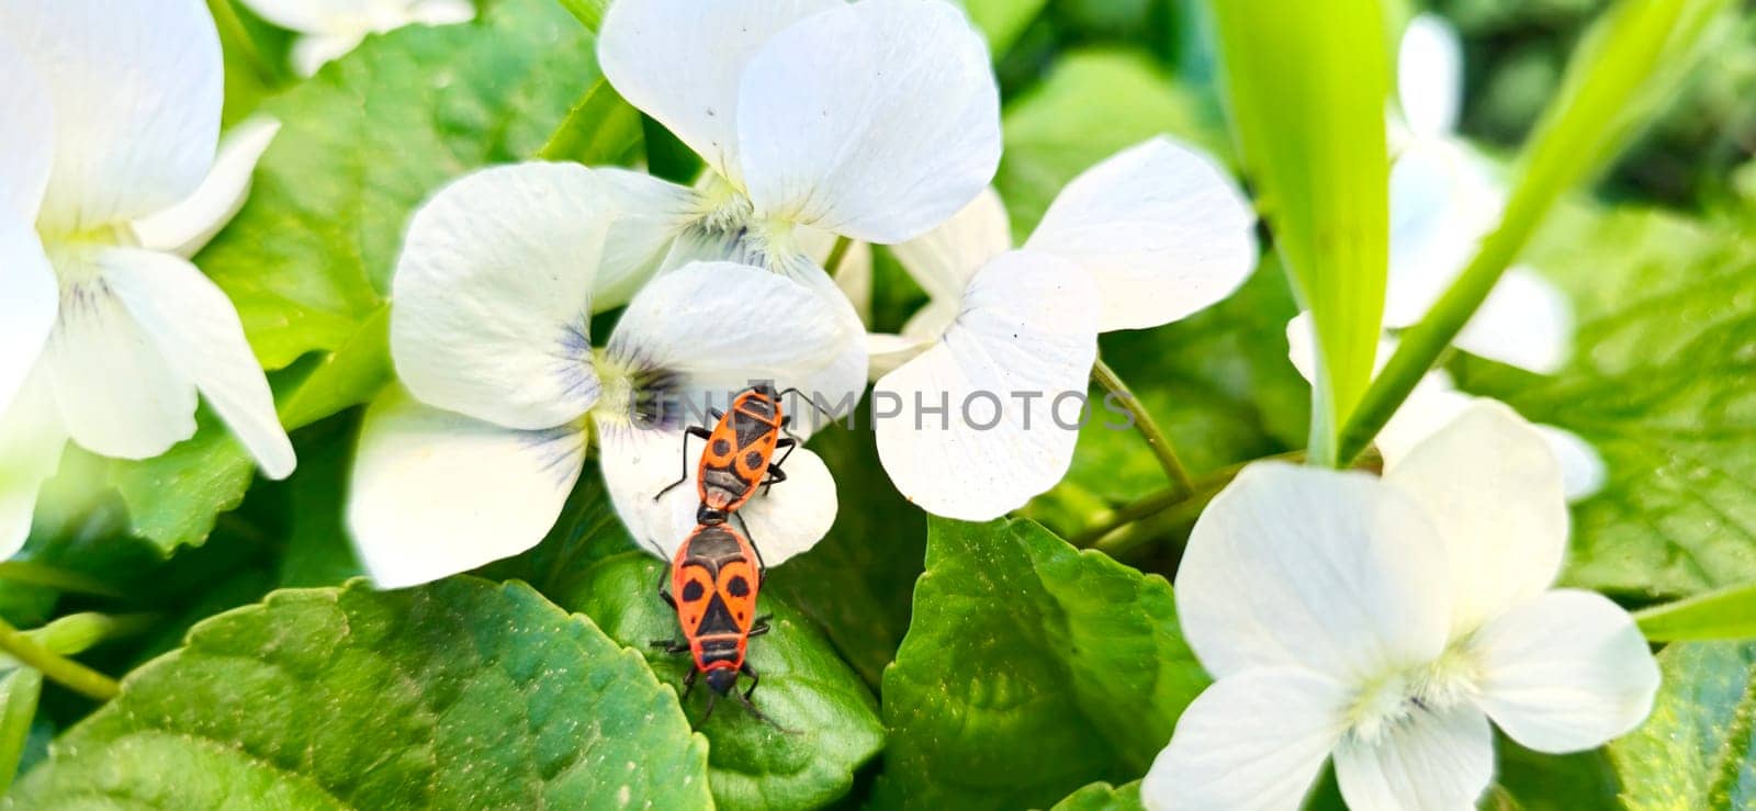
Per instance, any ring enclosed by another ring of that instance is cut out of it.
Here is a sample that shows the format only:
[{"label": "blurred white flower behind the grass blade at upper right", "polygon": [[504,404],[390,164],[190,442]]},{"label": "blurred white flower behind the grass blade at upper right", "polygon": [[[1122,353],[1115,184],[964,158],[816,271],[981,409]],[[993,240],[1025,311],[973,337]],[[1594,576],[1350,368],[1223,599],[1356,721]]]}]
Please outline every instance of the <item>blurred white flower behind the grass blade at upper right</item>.
[{"label": "blurred white flower behind the grass blade at upper right", "polygon": [[[1500,223],[1507,195],[1494,167],[1457,133],[1463,46],[1445,21],[1421,14],[1403,33],[1396,70],[1407,130],[1391,169],[1391,276],[1384,325],[1412,327],[1475,256]],[[1512,267],[1489,293],[1457,346],[1533,372],[1566,360],[1573,311],[1529,267]]]}]

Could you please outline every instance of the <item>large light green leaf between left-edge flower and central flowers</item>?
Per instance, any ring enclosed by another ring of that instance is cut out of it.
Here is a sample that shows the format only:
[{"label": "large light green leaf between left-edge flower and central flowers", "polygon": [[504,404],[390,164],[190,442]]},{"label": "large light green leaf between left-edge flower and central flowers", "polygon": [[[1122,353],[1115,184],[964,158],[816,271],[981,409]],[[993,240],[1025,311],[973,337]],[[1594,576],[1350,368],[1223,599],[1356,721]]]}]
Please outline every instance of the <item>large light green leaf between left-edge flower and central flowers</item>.
[{"label": "large light green leaf between left-edge flower and central flowers", "polygon": [[[472,25],[369,37],[262,105],[281,133],[249,202],[197,263],[237,305],[256,358],[281,370],[270,381],[288,428],[365,402],[390,377],[385,297],[414,207],[462,174],[537,154],[578,107],[601,109],[581,100],[601,84],[592,32],[565,9],[500,0]],[[622,126],[592,147],[615,153],[634,135]],[[169,551],[202,542],[253,467],[207,414],[195,439],[112,477],[133,530]]]}]

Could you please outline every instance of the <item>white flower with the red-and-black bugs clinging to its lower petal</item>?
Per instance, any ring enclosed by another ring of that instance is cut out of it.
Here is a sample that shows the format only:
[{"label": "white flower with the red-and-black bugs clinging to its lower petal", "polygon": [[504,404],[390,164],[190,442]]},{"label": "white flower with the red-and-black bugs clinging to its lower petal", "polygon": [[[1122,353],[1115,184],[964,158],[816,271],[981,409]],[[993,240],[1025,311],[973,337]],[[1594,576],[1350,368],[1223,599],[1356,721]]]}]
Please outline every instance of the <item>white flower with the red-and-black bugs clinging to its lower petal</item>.
[{"label": "white flower with the red-and-black bugs clinging to its lower petal", "polygon": [[[683,469],[683,428],[709,395],[794,386],[834,362],[841,327],[820,295],[723,262],[648,283],[594,349],[594,300],[606,279],[620,283],[606,270],[625,258],[615,246],[643,228],[608,204],[622,179],[572,163],[486,169],[414,214],[390,319],[407,393],[369,409],[348,504],[378,585],[534,546],[594,432],[616,509],[636,539],[669,553],[694,525],[695,490],[653,495]],[[795,449],[787,474],[739,511],[769,565],[822,539],[836,514],[834,481],[811,451]]]}]

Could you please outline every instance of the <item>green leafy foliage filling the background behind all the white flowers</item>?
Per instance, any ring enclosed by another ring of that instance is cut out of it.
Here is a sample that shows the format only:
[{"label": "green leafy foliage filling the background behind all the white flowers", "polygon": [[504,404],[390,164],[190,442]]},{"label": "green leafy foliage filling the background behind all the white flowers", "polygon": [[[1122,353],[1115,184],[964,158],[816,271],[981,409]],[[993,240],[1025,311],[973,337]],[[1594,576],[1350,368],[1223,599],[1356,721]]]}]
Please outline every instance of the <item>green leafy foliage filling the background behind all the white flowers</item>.
[{"label": "green leafy foliage filling the background behind all the white flowers", "polygon": [[[372,37],[309,81],[279,67],[284,32],[209,5],[227,119],[269,112],[284,128],[197,262],[272,370],[300,467],[253,481],[211,414],[156,460],[70,451],[26,565],[0,569],[0,614],[132,616],[130,634],[65,650],[128,676],[102,707],[32,671],[0,679],[0,764],[21,764],[9,807],[1138,807],[1136,781],[1206,676],[1164,579],[1192,511],[1105,551],[1064,541],[1162,488],[1133,434],[1087,430],[1068,481],[987,525],[910,507],[869,432],[815,439],[839,516],[773,572],[774,632],[752,646],[757,700],[790,732],[739,707],[702,721],[701,692],[678,700],[688,665],[648,646],[674,630],[651,588],[660,563],[592,472],[518,558],[404,592],[356,579],[339,516],[356,407],[392,374],[385,295],[409,212],[451,177],[534,156],[694,167],[602,81],[592,0],[495,0],[467,26]],[[1148,135],[1236,160],[1199,5],[968,0],[1004,91],[996,186],[1017,233],[1080,170]],[[1408,9],[1389,5],[1396,25]],[[1438,4],[1468,42],[1466,133],[1515,146],[1605,5]],[[1449,360],[1463,388],[1600,448],[1610,481],[1575,509],[1565,579],[1630,606],[1756,579],[1749,32],[1524,251],[1575,302],[1566,369]],[[874,327],[896,328],[922,293],[883,251],[876,274]],[[1103,341],[1198,479],[1306,442],[1285,279],[1264,251],[1231,300]],[[1484,802],[1749,807],[1756,653],[1680,642],[1661,662],[1645,728],[1566,758],[1501,743]],[[1336,804],[1333,783],[1312,802]]]}]

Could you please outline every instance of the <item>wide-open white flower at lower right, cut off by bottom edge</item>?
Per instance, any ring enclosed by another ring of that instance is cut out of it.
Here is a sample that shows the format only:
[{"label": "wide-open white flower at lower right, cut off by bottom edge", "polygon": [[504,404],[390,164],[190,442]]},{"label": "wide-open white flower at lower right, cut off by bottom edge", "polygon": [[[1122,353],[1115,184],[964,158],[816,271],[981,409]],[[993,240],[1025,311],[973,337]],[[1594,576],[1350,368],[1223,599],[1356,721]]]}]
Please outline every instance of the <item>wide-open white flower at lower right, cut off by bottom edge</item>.
[{"label": "wide-open white flower at lower right, cut off by bottom edge", "polygon": [[1489,720],[1547,753],[1652,709],[1658,664],[1608,599],[1551,590],[1561,476],[1475,404],[1384,479],[1250,465],[1196,521],[1177,614],[1217,679],[1141,783],[1152,809],[1292,809],[1335,758],[1356,811],[1468,809]]}]

